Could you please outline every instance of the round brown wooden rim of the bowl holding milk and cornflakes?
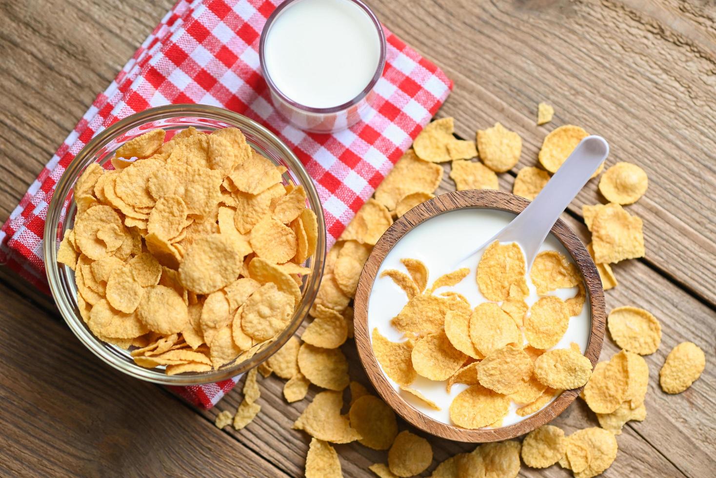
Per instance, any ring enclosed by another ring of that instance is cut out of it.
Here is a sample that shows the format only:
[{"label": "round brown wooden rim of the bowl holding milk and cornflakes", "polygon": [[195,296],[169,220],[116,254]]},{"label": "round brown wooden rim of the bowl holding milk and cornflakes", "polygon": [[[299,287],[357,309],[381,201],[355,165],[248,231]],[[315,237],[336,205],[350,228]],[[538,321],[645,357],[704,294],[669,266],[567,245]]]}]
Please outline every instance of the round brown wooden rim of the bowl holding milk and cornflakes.
[{"label": "round brown wooden rim of the bowl holding milk and cornflakes", "polygon": [[[558,414],[561,414],[581,391],[581,388],[564,391],[544,409],[516,424],[496,429],[464,429],[436,421],[430,416],[422,414],[421,411],[418,411],[414,406],[402,399],[384,376],[373,353],[368,331],[368,298],[381,263],[403,235],[427,219],[460,208],[490,208],[518,214],[528,204],[528,200],[523,197],[498,190],[448,192],[417,205],[398,218],[378,240],[365,263],[354,303],[355,341],[361,362],[370,381],[384,401],[397,411],[397,414],[422,431],[459,442],[497,442],[515,438],[546,424]],[[571,254],[584,278],[589,297],[589,307],[591,308],[591,333],[585,356],[589,358],[594,367],[601,351],[601,342],[604,338],[604,326],[606,323],[604,291],[601,288],[599,272],[596,270],[596,265],[591,260],[584,244],[574,235],[566,223],[558,220],[551,233]]]}]

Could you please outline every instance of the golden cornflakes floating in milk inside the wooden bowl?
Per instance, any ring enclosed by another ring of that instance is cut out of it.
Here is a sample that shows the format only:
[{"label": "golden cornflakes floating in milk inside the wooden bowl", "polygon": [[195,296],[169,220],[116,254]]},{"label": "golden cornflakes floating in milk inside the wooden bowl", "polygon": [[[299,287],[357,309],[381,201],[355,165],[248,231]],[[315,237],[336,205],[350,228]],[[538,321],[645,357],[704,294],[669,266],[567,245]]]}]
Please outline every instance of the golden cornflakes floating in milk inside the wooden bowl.
[{"label": "golden cornflakes floating in milk inside the wooden bowl", "polygon": [[[581,312],[585,291],[579,272],[561,253],[538,254],[530,278],[541,298],[531,307],[526,264],[516,243],[488,246],[478,263],[475,280],[490,302],[477,307],[455,291],[470,272],[461,268],[437,278],[427,288],[429,273],[416,259],[403,259],[407,273],[384,270],[407,296],[407,303],[392,319],[392,326],[407,338],[391,342],[377,328],[372,331],[373,351],[385,374],[401,389],[440,409],[410,388],[417,376],[469,386],[450,404],[450,419],[468,429],[501,426],[511,404],[527,416],[541,409],[566,389],[576,389],[591,376],[591,362],[574,344],[556,346]],[[560,288],[577,287],[573,298],[562,301],[548,295]],[[526,341],[526,343],[525,343]],[[576,347],[576,348],[575,348]]]}]

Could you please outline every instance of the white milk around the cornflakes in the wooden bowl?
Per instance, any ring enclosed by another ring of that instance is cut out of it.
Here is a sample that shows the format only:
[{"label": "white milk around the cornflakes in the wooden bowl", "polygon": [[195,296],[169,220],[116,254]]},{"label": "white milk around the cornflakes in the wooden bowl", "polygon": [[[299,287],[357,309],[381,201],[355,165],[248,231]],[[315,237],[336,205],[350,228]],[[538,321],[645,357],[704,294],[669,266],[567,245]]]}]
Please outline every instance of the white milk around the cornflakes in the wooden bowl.
[{"label": "white milk around the cornflakes in the wooden bowl", "polygon": [[[476,246],[490,240],[500,229],[508,225],[513,218],[515,218],[513,213],[506,213],[504,211],[486,208],[464,208],[425,220],[425,222],[417,225],[410,230],[410,232],[405,234],[383,260],[370,292],[368,302],[368,331],[371,335],[371,341],[374,328],[377,328],[378,331],[390,341],[405,341],[402,333],[393,327],[390,321],[393,317],[397,316],[403,306],[405,306],[407,297],[405,296],[405,292],[403,292],[390,277],[380,277],[383,270],[397,269],[407,273],[405,267],[400,263],[400,259],[414,258],[422,260],[430,274],[427,281],[429,288],[432,281],[435,281],[435,279],[442,274],[457,269],[457,264],[465,257],[465,254],[470,253]],[[571,255],[569,255],[559,240],[551,234],[547,236],[540,250],[557,250],[574,263]],[[439,288],[435,291],[435,294],[439,295],[448,290],[457,291],[468,299],[471,308],[475,308],[475,306],[478,306],[480,303],[488,302],[480,293],[477,281],[475,280],[480,256],[481,254],[478,254],[470,262],[470,273],[463,281],[460,281],[457,286]],[[530,278],[527,278],[527,284],[530,289],[530,295],[526,298],[526,303],[528,306],[532,306],[532,304],[538,300],[539,296]],[[563,288],[551,292],[550,295],[558,296],[566,301],[566,299],[574,297],[577,291],[578,288],[576,287]],[[589,311],[589,294],[587,294],[581,313],[569,319],[569,328],[561,341],[553,348],[569,348],[569,344],[575,342],[579,345],[581,353],[585,353],[587,343],[589,342],[590,331],[591,313]],[[432,381],[417,376],[410,387],[421,391],[427,399],[434,401],[437,406],[440,406],[441,410],[438,411],[425,405],[412,394],[402,391],[400,386],[387,376],[385,376],[385,378],[392,384],[397,394],[402,396],[405,401],[415,406],[415,408],[420,410],[423,414],[445,424],[453,424],[450,420],[450,404],[461,391],[468,388],[468,385],[456,383],[453,384],[450,394],[448,394],[445,390],[447,381]],[[547,404],[545,406],[547,406]],[[509,413],[503,420],[502,426],[515,424],[518,421],[528,418],[528,416],[522,417],[516,414],[516,409],[518,409],[518,405],[513,402]]]}]

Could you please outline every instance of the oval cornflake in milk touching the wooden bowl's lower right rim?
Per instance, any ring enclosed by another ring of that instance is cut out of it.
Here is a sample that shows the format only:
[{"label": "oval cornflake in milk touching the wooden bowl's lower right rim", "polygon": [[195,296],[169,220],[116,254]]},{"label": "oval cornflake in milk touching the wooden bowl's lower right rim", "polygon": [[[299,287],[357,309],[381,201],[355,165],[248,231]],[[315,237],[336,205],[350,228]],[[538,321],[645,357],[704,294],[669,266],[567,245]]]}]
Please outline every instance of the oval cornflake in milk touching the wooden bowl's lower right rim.
[{"label": "oval cornflake in milk touching the wooden bowl's lower right rim", "polygon": [[556,348],[537,357],[534,374],[553,389],[576,389],[589,381],[591,361],[569,348]]}]

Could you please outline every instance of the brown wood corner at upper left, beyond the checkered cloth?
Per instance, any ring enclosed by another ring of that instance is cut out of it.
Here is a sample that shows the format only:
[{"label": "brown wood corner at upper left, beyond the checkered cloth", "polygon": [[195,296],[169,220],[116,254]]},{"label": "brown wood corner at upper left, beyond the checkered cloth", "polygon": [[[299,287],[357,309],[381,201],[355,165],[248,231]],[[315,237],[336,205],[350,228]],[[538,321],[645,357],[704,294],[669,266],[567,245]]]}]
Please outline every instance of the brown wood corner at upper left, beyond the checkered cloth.
[{"label": "brown wood corner at upper left, beyond the checkered cloth", "polygon": [[173,3],[0,2],[0,222]]}]

